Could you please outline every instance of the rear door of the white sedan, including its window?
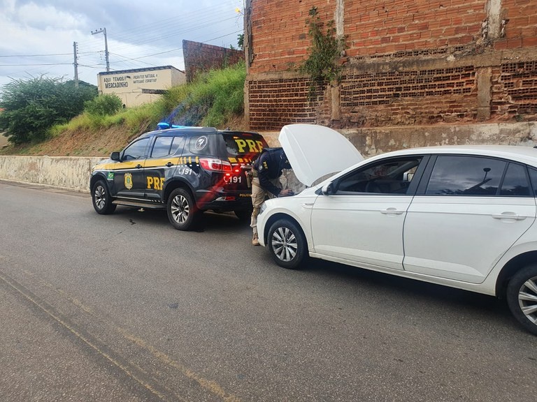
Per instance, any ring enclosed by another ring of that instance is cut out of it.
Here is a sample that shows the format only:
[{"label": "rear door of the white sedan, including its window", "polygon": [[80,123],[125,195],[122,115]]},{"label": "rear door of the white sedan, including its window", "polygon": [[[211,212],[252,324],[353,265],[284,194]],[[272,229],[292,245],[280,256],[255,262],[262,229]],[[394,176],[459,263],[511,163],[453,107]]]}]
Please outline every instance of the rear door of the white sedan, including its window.
[{"label": "rear door of the white sedan, including its window", "polygon": [[534,222],[527,168],[496,158],[441,155],[427,170],[430,179],[420,184],[404,226],[404,269],[481,283]]}]

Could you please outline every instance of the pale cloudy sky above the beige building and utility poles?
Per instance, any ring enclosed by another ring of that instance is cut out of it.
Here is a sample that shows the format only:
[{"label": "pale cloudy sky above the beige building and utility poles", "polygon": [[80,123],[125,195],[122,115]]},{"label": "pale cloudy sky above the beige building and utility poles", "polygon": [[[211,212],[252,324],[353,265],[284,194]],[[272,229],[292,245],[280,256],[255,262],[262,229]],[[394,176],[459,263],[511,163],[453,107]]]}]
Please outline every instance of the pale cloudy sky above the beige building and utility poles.
[{"label": "pale cloudy sky above the beige building and utility poles", "polygon": [[47,75],[97,84],[106,70],[185,69],[182,40],[238,47],[243,0],[0,0],[0,91],[11,80]]}]

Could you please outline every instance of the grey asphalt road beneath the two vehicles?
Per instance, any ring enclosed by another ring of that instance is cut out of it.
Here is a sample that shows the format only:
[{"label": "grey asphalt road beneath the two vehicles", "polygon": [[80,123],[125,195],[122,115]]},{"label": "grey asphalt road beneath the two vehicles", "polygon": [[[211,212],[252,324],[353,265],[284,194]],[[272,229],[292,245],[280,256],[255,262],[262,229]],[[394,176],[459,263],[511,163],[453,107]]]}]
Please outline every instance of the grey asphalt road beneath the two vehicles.
[{"label": "grey asphalt road beneath the two vehicles", "polygon": [[534,401],[501,301],[0,182],[0,401]]}]

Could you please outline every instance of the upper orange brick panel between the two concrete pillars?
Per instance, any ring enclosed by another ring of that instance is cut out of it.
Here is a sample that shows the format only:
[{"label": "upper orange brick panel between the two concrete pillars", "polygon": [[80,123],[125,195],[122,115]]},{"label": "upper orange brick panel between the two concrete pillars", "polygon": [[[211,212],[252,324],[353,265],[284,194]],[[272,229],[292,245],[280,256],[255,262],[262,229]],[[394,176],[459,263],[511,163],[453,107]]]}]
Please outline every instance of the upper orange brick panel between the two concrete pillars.
[{"label": "upper orange brick panel between the two concrete pillars", "polygon": [[445,54],[475,43],[484,0],[345,1],[350,57]]}]

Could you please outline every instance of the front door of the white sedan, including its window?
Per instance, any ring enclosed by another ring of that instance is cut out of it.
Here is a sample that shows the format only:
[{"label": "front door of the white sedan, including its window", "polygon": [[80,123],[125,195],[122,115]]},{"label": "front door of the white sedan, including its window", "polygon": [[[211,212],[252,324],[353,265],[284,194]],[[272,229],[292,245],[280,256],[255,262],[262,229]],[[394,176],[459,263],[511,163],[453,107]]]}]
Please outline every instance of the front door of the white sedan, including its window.
[{"label": "front door of the white sedan, including its window", "polygon": [[376,161],[336,179],[331,194],[313,204],[315,253],[361,267],[403,269],[403,223],[421,160]]}]

